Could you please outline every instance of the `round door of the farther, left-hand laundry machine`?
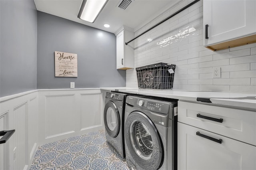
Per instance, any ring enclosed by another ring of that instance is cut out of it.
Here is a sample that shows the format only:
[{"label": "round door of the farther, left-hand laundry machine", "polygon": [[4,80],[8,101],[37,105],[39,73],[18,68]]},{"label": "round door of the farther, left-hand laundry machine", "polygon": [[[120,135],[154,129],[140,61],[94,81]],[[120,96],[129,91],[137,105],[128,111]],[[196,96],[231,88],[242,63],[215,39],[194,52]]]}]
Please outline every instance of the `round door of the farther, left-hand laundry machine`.
[{"label": "round door of the farther, left-hand laundry machine", "polygon": [[120,115],[114,102],[108,101],[104,108],[105,129],[109,136],[115,138],[120,130]]}]

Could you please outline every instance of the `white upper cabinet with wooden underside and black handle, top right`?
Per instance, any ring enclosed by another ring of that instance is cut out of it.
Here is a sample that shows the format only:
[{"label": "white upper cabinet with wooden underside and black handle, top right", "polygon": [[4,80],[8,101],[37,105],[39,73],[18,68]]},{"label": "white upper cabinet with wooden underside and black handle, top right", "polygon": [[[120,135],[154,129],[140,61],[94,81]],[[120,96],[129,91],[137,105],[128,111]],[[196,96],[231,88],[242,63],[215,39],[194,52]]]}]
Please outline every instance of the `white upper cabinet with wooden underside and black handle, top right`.
[{"label": "white upper cabinet with wooden underside and black handle, top right", "polygon": [[204,46],[212,50],[256,42],[256,0],[204,0]]}]

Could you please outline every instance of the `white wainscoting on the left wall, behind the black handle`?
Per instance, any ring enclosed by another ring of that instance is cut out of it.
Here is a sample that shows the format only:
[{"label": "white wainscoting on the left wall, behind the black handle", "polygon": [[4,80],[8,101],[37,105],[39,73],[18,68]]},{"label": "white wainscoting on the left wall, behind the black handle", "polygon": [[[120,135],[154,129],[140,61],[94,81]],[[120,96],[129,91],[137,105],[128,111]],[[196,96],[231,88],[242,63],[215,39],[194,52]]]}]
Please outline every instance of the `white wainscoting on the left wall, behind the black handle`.
[{"label": "white wainscoting on the left wall, behind the black handle", "polygon": [[26,170],[32,162],[38,143],[37,97],[37,91],[29,91],[0,98],[1,130],[15,129],[4,144],[4,170]]}]

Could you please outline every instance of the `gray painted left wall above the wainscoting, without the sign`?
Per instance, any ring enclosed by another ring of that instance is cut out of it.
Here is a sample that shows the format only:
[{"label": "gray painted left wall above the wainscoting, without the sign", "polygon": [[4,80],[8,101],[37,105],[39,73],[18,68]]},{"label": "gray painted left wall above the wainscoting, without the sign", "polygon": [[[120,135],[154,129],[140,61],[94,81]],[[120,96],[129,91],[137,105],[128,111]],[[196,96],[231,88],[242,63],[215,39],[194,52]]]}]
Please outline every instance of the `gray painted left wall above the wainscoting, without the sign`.
[{"label": "gray painted left wall above the wainscoting, without the sign", "polygon": [[0,97],[36,89],[33,0],[0,0]]}]

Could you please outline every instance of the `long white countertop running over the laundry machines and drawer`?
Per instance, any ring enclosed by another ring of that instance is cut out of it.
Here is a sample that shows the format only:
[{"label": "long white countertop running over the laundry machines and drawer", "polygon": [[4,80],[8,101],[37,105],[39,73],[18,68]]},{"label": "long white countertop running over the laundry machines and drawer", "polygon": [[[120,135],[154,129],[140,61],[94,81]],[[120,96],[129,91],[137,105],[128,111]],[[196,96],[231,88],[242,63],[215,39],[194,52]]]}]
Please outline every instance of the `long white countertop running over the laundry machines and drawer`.
[{"label": "long white countertop running over the laundry machines and drawer", "polygon": [[[120,91],[156,97],[166,97],[184,101],[197,101],[199,98],[210,99],[210,102],[217,105],[232,107],[243,107],[256,111],[256,94],[254,93],[229,93],[214,91],[186,91],[186,90],[149,90],[129,87],[103,87],[102,90]],[[224,99],[226,98],[226,99]],[[236,98],[236,99],[232,99]],[[203,102],[202,102],[203,103]],[[206,104],[206,103],[205,103]]]}]

